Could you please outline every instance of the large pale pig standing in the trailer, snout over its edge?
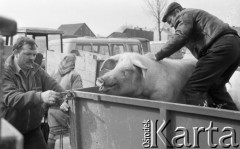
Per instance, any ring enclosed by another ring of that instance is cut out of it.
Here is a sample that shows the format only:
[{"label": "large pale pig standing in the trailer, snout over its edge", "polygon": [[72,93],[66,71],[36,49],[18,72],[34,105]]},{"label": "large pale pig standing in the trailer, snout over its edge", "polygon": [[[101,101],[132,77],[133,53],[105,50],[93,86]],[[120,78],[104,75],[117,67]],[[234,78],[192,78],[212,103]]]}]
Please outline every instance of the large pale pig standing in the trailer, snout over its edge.
[{"label": "large pale pig standing in the trailer, snout over its edge", "polygon": [[[106,94],[186,103],[183,88],[191,76],[196,59],[153,60],[152,54],[123,53],[105,60],[100,70],[103,76],[96,81]],[[235,72],[227,90],[240,109],[240,72]]]}]

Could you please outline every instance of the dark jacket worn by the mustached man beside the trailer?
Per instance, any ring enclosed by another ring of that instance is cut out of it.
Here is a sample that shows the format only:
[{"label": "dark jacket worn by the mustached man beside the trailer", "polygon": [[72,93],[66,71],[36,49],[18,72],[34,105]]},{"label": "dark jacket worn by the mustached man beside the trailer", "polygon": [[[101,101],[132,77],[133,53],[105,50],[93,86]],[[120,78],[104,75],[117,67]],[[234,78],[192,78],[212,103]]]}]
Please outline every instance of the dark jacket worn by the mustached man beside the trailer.
[{"label": "dark jacket worn by the mustached man beside the trailer", "polygon": [[0,115],[24,134],[40,126],[44,114],[41,92],[64,90],[35,63],[27,85],[17,72],[13,59],[14,56],[11,55],[4,65]]}]

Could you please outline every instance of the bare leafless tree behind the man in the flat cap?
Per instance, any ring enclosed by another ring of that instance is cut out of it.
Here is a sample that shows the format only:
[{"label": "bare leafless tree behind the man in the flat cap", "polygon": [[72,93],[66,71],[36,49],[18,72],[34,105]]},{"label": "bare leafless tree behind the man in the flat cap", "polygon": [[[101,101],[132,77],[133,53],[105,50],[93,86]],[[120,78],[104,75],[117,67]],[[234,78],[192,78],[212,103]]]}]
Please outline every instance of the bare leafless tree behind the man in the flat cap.
[{"label": "bare leafless tree behind the man in the flat cap", "polygon": [[146,3],[146,8],[150,15],[154,17],[156,21],[156,26],[158,30],[159,40],[161,40],[161,32],[163,29],[162,16],[167,6],[168,0],[144,0]]}]

